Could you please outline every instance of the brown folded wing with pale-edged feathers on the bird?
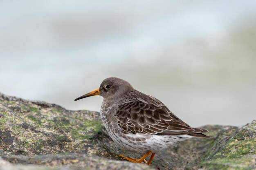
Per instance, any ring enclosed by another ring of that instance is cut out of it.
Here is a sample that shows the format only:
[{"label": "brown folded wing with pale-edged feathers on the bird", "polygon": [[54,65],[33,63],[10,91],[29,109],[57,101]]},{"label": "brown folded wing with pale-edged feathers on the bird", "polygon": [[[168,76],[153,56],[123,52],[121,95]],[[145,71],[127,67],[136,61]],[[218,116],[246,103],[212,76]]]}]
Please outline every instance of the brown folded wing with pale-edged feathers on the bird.
[{"label": "brown folded wing with pale-edged feathers on the bird", "polygon": [[117,118],[118,125],[128,134],[184,135],[208,132],[202,128],[191,128],[154,97],[148,97],[146,102],[136,99],[120,105]]}]

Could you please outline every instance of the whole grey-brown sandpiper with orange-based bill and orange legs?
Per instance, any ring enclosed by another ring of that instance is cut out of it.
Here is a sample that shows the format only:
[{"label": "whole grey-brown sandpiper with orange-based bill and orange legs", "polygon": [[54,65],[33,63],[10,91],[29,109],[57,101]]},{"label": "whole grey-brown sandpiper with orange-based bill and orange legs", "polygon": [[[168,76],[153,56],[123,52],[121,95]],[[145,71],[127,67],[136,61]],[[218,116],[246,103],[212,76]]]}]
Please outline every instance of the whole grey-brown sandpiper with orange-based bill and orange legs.
[{"label": "whole grey-brown sandpiper with orange-based bill and orange legs", "polygon": [[150,166],[161,150],[186,139],[210,137],[203,134],[208,130],[190,127],[160,100],[135,90],[123,79],[106,78],[99,88],[75,101],[95,95],[103,97],[100,115],[108,135],[124,150],[143,155],[139,159],[118,155],[127,161]]}]

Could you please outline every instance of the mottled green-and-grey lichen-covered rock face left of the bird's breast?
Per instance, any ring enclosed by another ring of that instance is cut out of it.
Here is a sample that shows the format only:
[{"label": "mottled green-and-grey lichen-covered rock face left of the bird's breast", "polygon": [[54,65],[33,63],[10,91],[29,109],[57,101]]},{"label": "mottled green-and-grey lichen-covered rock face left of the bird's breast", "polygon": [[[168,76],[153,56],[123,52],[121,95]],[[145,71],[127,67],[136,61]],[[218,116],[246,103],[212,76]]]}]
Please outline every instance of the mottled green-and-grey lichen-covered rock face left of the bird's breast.
[{"label": "mottled green-and-grey lichen-covered rock face left of the bird's breast", "polygon": [[86,152],[101,131],[99,113],[0,95],[0,149],[36,155]]}]

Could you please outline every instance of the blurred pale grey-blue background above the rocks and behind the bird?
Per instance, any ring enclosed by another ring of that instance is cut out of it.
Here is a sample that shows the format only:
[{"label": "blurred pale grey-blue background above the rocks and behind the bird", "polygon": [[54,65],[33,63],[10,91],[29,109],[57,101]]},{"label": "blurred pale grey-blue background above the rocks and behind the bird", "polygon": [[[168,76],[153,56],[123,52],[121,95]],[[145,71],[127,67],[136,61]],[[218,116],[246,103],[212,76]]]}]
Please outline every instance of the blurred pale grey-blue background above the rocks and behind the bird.
[{"label": "blurred pale grey-blue background above the rocks and behind the bird", "polygon": [[119,77],[191,126],[256,119],[256,1],[0,1],[0,93],[76,97]]}]

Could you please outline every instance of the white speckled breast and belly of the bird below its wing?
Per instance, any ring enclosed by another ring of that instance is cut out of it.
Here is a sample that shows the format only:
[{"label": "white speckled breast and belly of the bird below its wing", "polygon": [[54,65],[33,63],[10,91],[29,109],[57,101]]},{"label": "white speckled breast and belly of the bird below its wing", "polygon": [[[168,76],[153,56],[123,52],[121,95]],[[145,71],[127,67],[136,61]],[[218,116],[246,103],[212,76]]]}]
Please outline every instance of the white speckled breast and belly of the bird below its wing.
[{"label": "white speckled breast and belly of the bird below its wing", "polygon": [[169,147],[175,147],[180,141],[195,138],[189,135],[143,135],[143,134],[126,134],[117,124],[115,116],[116,105],[109,105],[103,101],[101,105],[101,119],[108,132],[108,135],[121,148],[131,152],[146,154],[148,150],[153,153],[159,152]]}]

